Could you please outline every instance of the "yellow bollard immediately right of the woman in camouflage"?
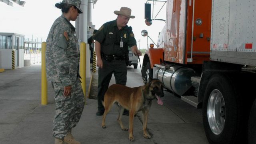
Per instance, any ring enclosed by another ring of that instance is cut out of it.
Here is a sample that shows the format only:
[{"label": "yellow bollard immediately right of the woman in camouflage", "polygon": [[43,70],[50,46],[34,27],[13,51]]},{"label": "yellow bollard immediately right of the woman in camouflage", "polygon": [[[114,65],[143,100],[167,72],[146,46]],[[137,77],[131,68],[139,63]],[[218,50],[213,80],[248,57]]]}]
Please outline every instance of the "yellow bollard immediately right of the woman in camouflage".
[{"label": "yellow bollard immediately right of the woman in camouflage", "polygon": [[86,98],[86,44],[81,42],[80,44],[80,76],[82,77],[82,89],[84,97]]}]

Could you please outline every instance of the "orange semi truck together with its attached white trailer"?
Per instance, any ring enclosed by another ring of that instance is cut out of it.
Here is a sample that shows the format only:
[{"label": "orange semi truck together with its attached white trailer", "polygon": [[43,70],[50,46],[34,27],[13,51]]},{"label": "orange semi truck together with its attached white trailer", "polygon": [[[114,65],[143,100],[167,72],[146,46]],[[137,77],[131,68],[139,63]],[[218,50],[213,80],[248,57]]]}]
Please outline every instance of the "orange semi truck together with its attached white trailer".
[{"label": "orange semi truck together with its attached white trailer", "polygon": [[144,55],[144,82],[157,78],[202,108],[210,144],[256,144],[255,7],[256,0],[166,0],[158,46]]}]

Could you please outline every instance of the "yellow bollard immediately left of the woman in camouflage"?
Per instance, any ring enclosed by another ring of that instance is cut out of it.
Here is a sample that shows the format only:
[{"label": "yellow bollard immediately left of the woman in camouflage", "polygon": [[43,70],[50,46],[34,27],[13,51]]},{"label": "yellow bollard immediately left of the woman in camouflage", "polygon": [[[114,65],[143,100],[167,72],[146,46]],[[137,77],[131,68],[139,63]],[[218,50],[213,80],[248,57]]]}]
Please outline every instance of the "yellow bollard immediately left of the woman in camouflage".
[{"label": "yellow bollard immediately left of the woman in camouflage", "polygon": [[46,63],[45,63],[46,42],[42,42],[42,77],[41,77],[41,104],[47,104],[47,80],[46,80]]}]

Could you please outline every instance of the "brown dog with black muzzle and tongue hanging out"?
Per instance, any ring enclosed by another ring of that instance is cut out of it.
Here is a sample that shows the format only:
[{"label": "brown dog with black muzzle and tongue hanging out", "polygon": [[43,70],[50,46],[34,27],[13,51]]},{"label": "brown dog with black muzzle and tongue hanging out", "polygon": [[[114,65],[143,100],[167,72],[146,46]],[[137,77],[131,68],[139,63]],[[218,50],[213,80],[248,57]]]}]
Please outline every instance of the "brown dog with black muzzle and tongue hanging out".
[{"label": "brown dog with black muzzle and tongue hanging out", "polygon": [[124,128],[121,117],[124,112],[124,108],[129,110],[129,140],[134,141],[133,137],[133,120],[134,115],[142,110],[143,114],[143,136],[144,138],[151,138],[151,136],[146,131],[148,122],[148,111],[152,104],[152,100],[157,98],[158,104],[163,104],[160,97],[164,96],[163,84],[158,79],[152,79],[148,84],[144,86],[130,88],[127,86],[122,86],[120,84],[113,84],[110,86],[104,96],[103,105],[105,107],[105,112],[102,118],[102,128],[106,128],[105,119],[106,115],[110,111],[110,108],[114,103],[118,105],[119,115],[118,123],[120,124],[122,130],[128,130]]}]

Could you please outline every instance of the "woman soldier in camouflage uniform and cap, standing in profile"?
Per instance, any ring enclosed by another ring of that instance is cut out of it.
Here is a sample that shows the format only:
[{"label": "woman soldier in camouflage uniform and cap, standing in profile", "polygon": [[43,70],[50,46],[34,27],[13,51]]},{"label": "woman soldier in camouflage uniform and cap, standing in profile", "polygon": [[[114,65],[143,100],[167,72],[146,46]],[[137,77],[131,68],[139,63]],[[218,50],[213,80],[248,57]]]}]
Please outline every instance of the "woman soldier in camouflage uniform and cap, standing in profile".
[{"label": "woman soldier in camouflage uniform and cap, standing in profile", "polygon": [[70,20],[75,21],[80,0],[62,0],[55,4],[62,9],[46,40],[46,72],[52,83],[55,100],[53,136],[55,144],[80,144],[71,134],[84,109],[85,98],[79,79],[80,52],[76,31]]}]

